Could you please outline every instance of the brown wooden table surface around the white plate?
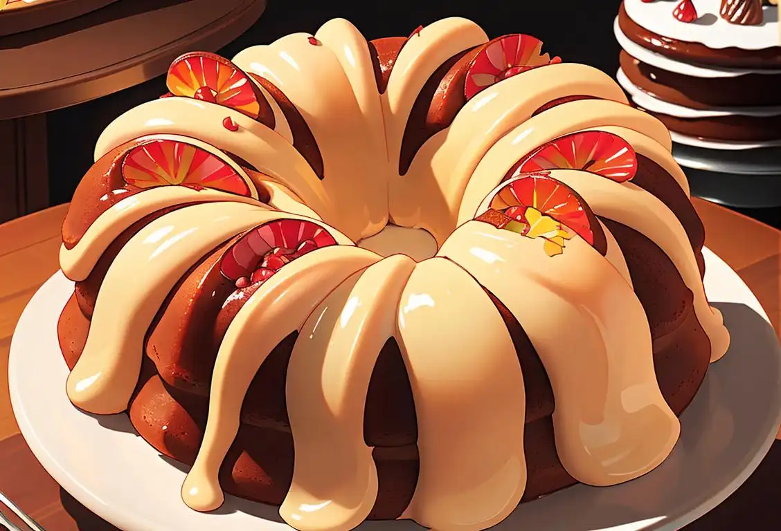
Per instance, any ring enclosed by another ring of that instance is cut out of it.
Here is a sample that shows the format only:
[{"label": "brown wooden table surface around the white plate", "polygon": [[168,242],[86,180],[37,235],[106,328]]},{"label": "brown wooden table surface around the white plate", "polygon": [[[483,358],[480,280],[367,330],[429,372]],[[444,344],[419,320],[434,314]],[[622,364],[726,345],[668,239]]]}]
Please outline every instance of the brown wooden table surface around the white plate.
[{"label": "brown wooden table surface around the white plate", "polygon": [[[781,232],[726,208],[694,200],[706,245],[746,282],[781,330]],[[16,320],[41,284],[58,269],[59,228],[66,205],[0,225],[0,490],[50,531],[115,529],[92,515],[52,480],[19,434],[8,391],[9,346]],[[724,503],[686,531],[781,529],[781,441]],[[20,478],[24,478],[23,481]],[[761,522],[753,525],[748,522]]]}]

